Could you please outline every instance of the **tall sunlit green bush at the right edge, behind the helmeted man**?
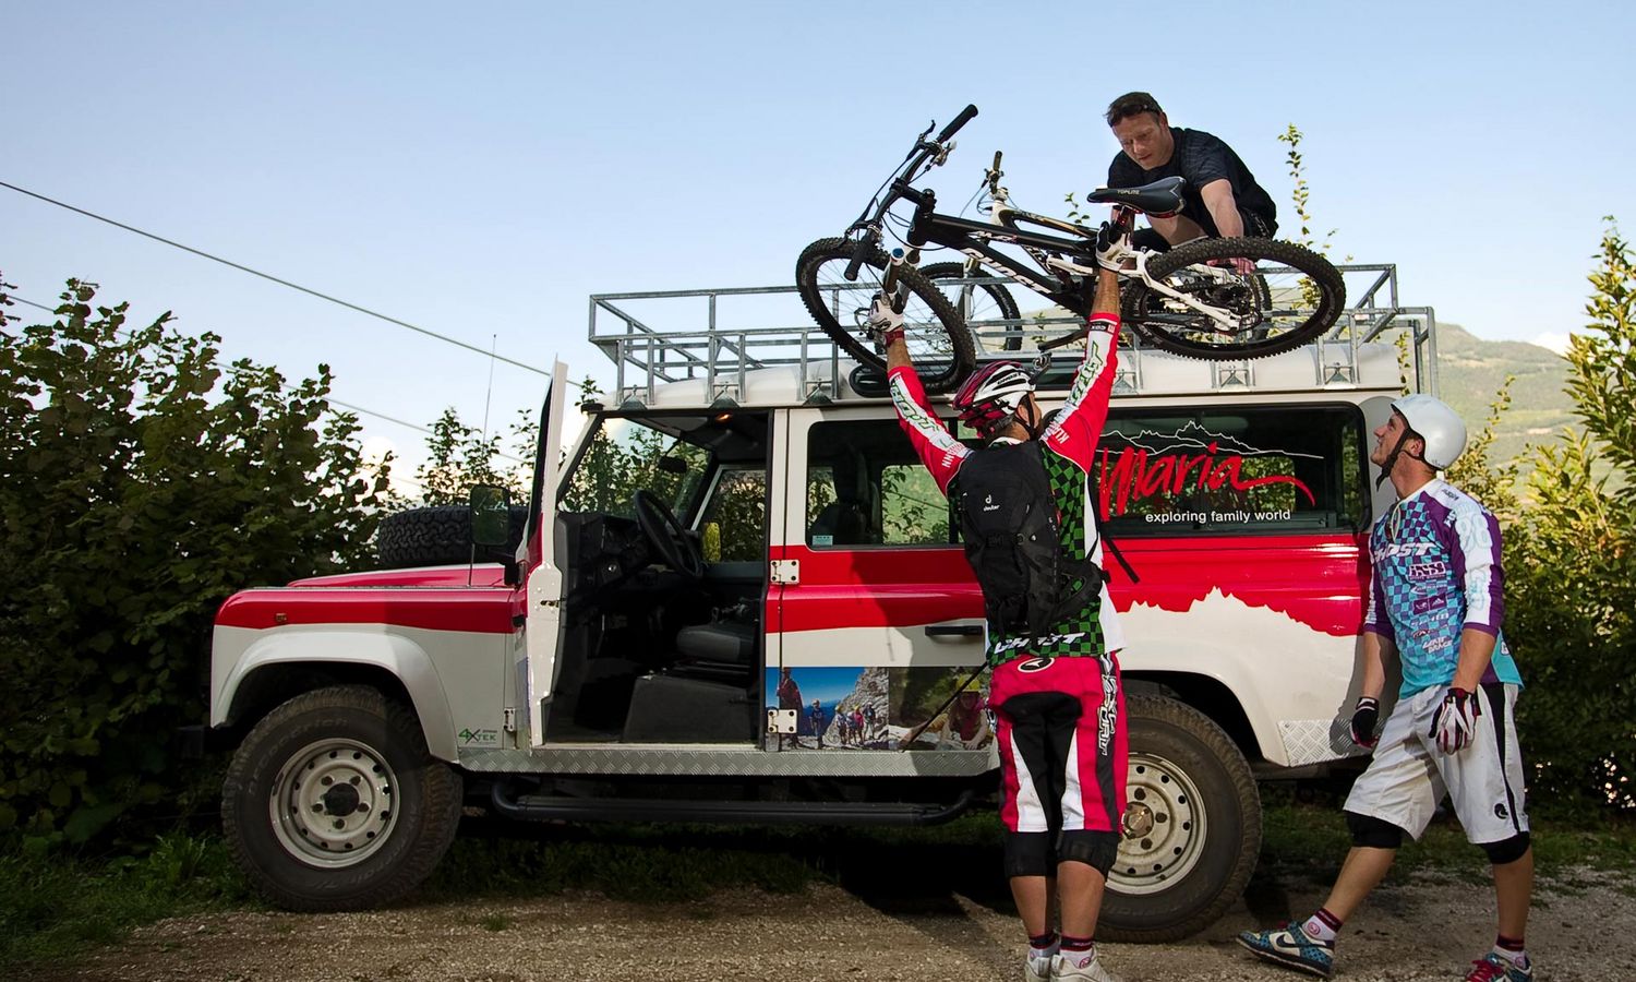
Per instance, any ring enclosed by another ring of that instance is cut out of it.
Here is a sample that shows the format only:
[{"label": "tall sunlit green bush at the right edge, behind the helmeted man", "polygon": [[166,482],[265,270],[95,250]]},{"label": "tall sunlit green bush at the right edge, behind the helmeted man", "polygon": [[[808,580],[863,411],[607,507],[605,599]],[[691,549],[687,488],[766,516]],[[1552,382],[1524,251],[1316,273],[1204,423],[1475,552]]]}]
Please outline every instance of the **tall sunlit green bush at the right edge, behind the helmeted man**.
[{"label": "tall sunlit green bush at the right edge, behind the helmeted man", "polygon": [[1505,637],[1523,671],[1518,732],[1533,769],[1530,809],[1636,813],[1636,267],[1618,229],[1590,275],[1590,322],[1567,352],[1582,429],[1490,471],[1487,447],[1508,398],[1451,480],[1487,504],[1505,545]]}]

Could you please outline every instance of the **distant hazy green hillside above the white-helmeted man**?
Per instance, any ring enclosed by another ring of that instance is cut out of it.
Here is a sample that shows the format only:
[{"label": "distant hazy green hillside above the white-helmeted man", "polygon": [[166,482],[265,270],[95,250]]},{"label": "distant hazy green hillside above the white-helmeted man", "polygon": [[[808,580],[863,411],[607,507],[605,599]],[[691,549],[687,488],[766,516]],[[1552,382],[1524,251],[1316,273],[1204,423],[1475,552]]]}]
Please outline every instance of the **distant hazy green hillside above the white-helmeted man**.
[{"label": "distant hazy green hillside above the white-helmeted man", "polygon": [[1438,381],[1443,401],[1466,417],[1472,429],[1482,426],[1507,375],[1512,408],[1500,416],[1492,463],[1500,465],[1523,452],[1526,444],[1548,444],[1562,426],[1577,422],[1562,386],[1567,362],[1539,345],[1520,340],[1482,340],[1459,324],[1438,322]]}]

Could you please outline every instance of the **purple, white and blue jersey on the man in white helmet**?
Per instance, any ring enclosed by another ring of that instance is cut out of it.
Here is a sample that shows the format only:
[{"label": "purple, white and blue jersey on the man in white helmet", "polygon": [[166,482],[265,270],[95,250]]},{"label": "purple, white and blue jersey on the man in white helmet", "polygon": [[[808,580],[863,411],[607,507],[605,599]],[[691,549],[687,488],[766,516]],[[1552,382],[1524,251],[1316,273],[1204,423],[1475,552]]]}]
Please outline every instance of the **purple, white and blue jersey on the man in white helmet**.
[{"label": "purple, white and blue jersey on the man in white helmet", "polygon": [[1477,499],[1448,481],[1428,483],[1374,524],[1369,558],[1374,583],[1363,628],[1397,645],[1400,697],[1454,681],[1467,627],[1495,638],[1482,681],[1521,684],[1500,633],[1500,527]]}]

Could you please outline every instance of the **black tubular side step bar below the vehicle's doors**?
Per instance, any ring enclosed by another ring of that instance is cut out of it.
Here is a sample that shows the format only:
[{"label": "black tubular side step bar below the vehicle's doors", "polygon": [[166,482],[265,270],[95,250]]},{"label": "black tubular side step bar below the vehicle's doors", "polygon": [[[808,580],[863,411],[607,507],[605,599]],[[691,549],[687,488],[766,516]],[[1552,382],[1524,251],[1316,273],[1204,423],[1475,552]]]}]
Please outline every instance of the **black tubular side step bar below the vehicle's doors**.
[{"label": "black tubular side step bar below the vehicle's doors", "polygon": [[494,810],[533,822],[707,822],[723,825],[939,825],[972,807],[977,792],[952,804],[901,802],[705,802],[687,799],[573,799],[546,794],[489,794]]}]

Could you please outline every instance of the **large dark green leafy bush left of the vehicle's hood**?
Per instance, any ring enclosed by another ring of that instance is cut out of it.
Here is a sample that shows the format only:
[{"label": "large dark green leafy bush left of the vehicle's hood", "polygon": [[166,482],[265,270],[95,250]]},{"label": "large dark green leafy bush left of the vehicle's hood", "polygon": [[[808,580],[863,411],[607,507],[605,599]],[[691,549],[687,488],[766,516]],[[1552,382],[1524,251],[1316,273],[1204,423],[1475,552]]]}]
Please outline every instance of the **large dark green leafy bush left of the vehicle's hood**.
[{"label": "large dark green leafy bush left of the vehicle's hood", "polygon": [[69,280],[26,327],[0,306],[0,836],[36,848],[187,787],[216,607],[362,560],[388,478],[327,367],[221,365],[218,336],[95,295]]}]

